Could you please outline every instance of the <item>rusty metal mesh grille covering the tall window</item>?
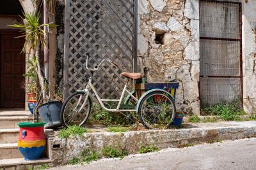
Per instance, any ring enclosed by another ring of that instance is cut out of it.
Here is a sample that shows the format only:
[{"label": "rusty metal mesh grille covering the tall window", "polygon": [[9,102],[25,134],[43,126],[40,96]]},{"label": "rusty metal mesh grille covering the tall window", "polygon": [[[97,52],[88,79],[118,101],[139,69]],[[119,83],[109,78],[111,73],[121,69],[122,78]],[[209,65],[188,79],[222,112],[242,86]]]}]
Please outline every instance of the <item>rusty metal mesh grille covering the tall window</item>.
[{"label": "rusty metal mesh grille covering the tall window", "polygon": [[241,99],[241,3],[200,0],[200,99],[202,104]]}]

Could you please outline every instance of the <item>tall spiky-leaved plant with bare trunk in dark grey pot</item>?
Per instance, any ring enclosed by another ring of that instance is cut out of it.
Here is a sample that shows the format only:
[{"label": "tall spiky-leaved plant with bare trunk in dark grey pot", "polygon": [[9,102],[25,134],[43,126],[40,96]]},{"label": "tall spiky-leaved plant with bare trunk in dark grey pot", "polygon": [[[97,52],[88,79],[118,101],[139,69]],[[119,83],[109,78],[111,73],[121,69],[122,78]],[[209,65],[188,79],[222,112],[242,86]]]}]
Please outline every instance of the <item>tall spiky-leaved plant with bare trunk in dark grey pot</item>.
[{"label": "tall spiky-leaved plant with bare trunk in dark grey pot", "polygon": [[[21,36],[26,38],[24,48],[28,50],[31,65],[31,70],[36,73],[36,80],[40,87],[38,93],[38,113],[44,122],[46,122],[45,128],[52,128],[61,126],[60,110],[62,103],[60,101],[51,101],[49,97],[49,85],[45,78],[45,74],[42,72],[42,63],[40,62],[40,50],[47,48],[45,36],[46,33],[43,27],[57,27],[56,24],[40,24],[40,14],[35,13],[23,13],[24,17],[21,17],[25,22],[24,24],[13,24],[12,27],[20,29]],[[31,95],[32,96],[32,95]]]}]

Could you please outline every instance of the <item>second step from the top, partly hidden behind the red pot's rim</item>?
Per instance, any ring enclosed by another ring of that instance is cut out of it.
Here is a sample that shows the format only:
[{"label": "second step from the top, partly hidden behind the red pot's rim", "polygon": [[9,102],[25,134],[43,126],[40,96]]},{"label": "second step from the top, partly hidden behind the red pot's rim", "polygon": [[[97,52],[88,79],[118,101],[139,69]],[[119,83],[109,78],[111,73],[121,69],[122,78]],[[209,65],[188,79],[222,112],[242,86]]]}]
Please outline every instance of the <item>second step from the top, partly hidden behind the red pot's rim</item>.
[{"label": "second step from the top, partly hidden behind the red pot's rim", "polygon": [[[0,144],[3,143],[17,143],[19,139],[20,129],[0,129]],[[45,135],[51,137],[54,131],[52,129],[45,129]]]}]

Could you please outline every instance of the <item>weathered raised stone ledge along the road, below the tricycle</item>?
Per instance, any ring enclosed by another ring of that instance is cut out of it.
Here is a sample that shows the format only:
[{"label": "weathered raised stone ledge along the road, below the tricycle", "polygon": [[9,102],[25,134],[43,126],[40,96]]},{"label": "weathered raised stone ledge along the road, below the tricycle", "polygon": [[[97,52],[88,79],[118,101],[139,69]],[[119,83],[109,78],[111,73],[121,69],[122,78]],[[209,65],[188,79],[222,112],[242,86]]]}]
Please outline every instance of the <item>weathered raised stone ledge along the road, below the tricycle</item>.
[{"label": "weathered raised stone ledge along the road, below the tricycle", "polygon": [[188,129],[131,131],[123,133],[93,132],[69,139],[50,138],[51,166],[67,164],[79,157],[84,149],[99,152],[102,147],[122,146],[128,153],[138,153],[141,144],[159,148],[175,148],[188,144],[212,143],[218,140],[252,138],[256,136],[256,122],[220,122],[216,124],[191,124]]}]

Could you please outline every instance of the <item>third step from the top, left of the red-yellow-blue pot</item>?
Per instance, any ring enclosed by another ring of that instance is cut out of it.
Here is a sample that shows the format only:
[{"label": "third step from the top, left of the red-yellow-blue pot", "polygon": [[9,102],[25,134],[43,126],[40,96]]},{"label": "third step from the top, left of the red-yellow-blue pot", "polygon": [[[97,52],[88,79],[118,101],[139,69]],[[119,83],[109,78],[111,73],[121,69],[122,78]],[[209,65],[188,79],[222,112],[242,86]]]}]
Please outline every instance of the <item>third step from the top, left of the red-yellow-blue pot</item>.
[{"label": "third step from the top, left of the red-yellow-blue pot", "polygon": [[1,159],[14,159],[22,158],[22,154],[19,152],[17,143],[3,143],[0,144],[0,160]]}]

